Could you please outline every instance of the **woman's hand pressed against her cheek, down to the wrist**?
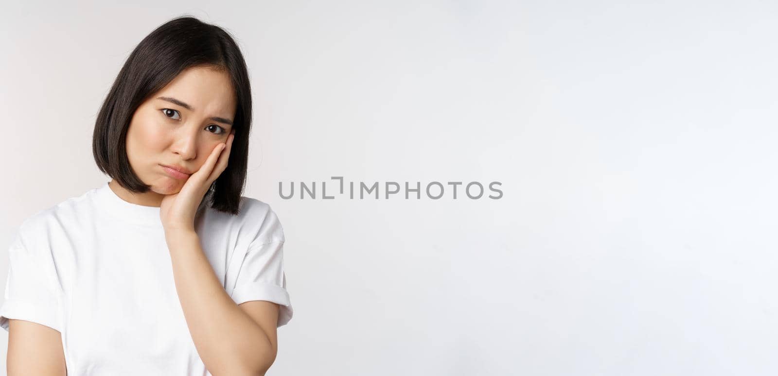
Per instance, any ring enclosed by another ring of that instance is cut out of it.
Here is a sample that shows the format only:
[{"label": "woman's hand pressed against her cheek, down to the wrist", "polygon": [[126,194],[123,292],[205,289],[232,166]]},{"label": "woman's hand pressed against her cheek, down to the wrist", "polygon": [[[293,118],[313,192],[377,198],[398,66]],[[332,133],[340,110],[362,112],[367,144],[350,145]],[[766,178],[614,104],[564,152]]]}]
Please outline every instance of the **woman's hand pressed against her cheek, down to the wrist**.
[{"label": "woman's hand pressed against her cheek, down to the wrist", "polygon": [[235,131],[227,136],[227,142],[213,148],[202,167],[189,176],[178,193],[166,195],[159,206],[159,217],[165,232],[170,230],[195,231],[195,214],[211,184],[224,172],[230,159]]}]

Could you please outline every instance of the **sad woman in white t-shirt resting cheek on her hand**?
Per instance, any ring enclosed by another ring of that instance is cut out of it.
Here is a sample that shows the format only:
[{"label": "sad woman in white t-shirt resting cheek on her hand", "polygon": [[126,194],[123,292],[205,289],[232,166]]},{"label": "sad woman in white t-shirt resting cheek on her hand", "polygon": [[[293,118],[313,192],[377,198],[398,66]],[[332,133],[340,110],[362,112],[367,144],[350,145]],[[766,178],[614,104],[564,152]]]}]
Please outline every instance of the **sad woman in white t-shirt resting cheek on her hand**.
[{"label": "sad woman in white t-shirt resting cheek on her hand", "polygon": [[9,248],[8,374],[265,374],[292,318],[275,212],[240,196],[251,89],[232,37],[188,16],[145,37],[97,116],[110,181]]}]

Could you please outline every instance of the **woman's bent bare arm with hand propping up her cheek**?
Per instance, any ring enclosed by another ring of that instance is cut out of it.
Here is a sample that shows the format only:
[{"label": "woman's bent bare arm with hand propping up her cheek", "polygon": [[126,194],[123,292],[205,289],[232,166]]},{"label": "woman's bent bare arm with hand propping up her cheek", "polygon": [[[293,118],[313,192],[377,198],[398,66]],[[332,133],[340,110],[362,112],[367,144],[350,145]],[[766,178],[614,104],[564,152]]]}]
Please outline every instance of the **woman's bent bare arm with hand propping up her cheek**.
[{"label": "woman's bent bare arm with hand propping up her cheek", "polygon": [[[214,376],[259,376],[275,360],[279,307],[270,302],[235,304],[202,252],[195,232],[198,205],[226,169],[234,138],[233,129],[178,193],[163,197],[159,218],[173,261],[178,300],[205,367]],[[275,315],[266,315],[270,308]]]}]

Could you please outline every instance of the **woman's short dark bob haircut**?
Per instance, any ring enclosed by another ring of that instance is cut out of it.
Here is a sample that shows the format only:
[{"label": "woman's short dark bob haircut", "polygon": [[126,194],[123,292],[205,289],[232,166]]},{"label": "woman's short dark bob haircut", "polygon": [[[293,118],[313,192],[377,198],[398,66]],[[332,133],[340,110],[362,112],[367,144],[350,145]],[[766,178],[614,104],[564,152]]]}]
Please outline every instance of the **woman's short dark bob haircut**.
[{"label": "woman's short dark bob haircut", "polygon": [[184,69],[202,66],[226,70],[236,91],[235,138],[226,169],[209,187],[205,205],[238,214],[246,183],[248,135],[251,131],[251,85],[243,54],[230,33],[191,16],[178,16],[158,26],[132,50],[110,88],[95,121],[92,153],[100,171],[135,193],[151,189],[132,171],[126,148],[135,110]]}]

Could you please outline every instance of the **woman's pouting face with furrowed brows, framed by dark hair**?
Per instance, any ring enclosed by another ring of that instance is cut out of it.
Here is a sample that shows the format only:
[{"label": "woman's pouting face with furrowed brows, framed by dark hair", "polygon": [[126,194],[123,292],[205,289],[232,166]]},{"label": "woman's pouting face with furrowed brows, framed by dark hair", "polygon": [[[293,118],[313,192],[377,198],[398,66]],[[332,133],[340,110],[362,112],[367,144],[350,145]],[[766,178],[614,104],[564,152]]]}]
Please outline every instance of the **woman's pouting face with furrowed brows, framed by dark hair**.
[{"label": "woman's pouting face with furrowed brows, framed by dark hair", "polygon": [[213,148],[227,141],[236,106],[226,71],[204,67],[182,71],[132,116],[127,156],[133,172],[155,193],[178,193],[188,176],[163,165],[191,173],[200,169]]}]

